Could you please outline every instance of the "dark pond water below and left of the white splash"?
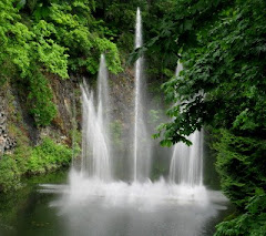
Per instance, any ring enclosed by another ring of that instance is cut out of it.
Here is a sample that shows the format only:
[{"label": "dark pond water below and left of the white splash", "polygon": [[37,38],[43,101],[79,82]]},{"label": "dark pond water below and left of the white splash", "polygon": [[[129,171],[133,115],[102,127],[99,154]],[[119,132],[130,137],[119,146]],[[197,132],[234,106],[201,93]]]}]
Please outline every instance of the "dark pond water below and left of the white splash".
[{"label": "dark pond water below and left of the white splash", "polygon": [[[65,204],[58,193],[40,193],[39,183],[65,183],[66,173],[31,179],[1,199],[1,236],[208,236],[231,214],[227,203],[121,204],[101,197]],[[147,206],[149,205],[149,206]],[[147,207],[146,207],[147,206]]]}]

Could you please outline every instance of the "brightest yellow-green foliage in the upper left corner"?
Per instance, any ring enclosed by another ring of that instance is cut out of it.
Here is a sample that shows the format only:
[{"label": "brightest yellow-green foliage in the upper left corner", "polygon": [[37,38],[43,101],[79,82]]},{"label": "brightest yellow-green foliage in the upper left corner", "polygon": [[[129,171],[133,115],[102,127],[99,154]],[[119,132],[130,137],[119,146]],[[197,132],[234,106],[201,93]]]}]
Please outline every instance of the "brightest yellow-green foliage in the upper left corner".
[{"label": "brightest yellow-green foliage in the upper left corner", "polygon": [[68,55],[65,49],[51,39],[52,33],[55,33],[53,25],[39,21],[28,27],[20,22],[21,17],[12,3],[8,1],[1,8],[1,62],[11,60],[21,78],[31,78],[32,72],[43,65],[48,71],[68,78]]}]

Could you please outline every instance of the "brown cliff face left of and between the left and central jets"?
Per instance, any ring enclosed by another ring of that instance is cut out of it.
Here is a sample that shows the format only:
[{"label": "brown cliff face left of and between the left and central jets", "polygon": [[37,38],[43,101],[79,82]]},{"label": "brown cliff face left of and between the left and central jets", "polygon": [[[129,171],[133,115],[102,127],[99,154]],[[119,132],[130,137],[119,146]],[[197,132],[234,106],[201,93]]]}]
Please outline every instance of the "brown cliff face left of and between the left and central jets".
[{"label": "brown cliff face left of and between the left and central jets", "polygon": [[[12,151],[17,146],[17,141],[21,144],[21,136],[22,145],[38,145],[48,136],[58,143],[71,146],[73,130],[81,130],[80,83],[83,76],[71,75],[69,80],[61,80],[49,73],[45,76],[58,110],[57,116],[45,127],[38,127],[34,124],[34,117],[30,114],[27,104],[27,94],[19,85],[7,83],[6,88],[0,88],[0,156],[4,152]],[[110,73],[109,79],[112,129],[119,135],[117,142],[124,142],[129,140],[126,137],[132,132],[134,121],[134,70],[126,69],[117,75]],[[88,78],[88,81],[91,88],[95,86],[95,78]]]}]

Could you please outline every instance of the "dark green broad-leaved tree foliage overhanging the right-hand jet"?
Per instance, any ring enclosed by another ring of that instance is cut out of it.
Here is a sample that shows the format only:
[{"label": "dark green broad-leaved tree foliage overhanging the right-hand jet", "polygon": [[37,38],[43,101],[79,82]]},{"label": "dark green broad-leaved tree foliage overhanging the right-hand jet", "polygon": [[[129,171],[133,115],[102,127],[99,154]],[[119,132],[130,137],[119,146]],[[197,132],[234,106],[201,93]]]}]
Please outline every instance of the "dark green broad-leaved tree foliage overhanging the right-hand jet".
[{"label": "dark green broad-leaved tree foliage overhanging the right-hand jet", "polygon": [[[167,98],[178,101],[168,111],[174,122],[164,126],[171,133],[168,141],[184,141],[206,123],[256,135],[266,129],[262,112],[266,101],[262,60],[266,53],[265,1],[227,3],[180,1],[175,11],[184,12],[174,14],[171,22],[183,27],[177,32],[165,29],[173,33],[171,39],[177,38],[184,65],[180,76],[164,85]],[[193,12],[201,13],[196,17]],[[185,27],[191,18],[190,27]],[[202,18],[206,19],[196,22]],[[191,40],[186,42],[183,37]]]}]

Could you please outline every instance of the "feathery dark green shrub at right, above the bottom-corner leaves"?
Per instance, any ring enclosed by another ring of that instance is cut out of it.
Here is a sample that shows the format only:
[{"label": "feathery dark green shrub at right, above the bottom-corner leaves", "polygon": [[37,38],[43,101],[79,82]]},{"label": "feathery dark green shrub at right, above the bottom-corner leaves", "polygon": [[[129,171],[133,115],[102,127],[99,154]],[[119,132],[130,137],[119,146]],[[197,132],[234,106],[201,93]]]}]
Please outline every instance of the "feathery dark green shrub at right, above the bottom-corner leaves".
[{"label": "feathery dark green shrub at right, above the bottom-corner leaves", "polygon": [[216,132],[215,136],[222,188],[238,208],[244,209],[257,188],[266,186],[266,144],[226,130]]}]

